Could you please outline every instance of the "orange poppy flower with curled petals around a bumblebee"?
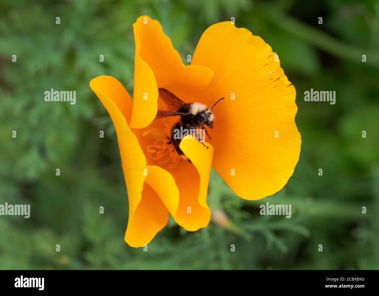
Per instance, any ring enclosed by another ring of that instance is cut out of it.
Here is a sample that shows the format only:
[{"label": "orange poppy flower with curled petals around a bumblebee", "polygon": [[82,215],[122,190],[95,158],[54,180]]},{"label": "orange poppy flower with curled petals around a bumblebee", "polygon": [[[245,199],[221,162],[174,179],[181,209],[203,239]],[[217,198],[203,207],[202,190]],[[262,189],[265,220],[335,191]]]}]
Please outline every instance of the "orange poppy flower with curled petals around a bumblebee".
[{"label": "orange poppy flower with curled petals around a bumblebee", "polygon": [[[271,47],[231,22],[216,23],[185,66],[157,20],[141,16],[133,29],[133,100],[111,76],[89,83],[116,128],[129,199],[125,241],[132,247],[149,243],[169,213],[188,231],[206,227],[211,167],[243,199],[282,189],[298,162],[301,138],[296,91]],[[167,110],[158,88],[207,106],[225,97],[213,110],[209,149],[190,135],[181,141],[191,162],[167,140],[179,117],[155,119],[157,110]]]}]

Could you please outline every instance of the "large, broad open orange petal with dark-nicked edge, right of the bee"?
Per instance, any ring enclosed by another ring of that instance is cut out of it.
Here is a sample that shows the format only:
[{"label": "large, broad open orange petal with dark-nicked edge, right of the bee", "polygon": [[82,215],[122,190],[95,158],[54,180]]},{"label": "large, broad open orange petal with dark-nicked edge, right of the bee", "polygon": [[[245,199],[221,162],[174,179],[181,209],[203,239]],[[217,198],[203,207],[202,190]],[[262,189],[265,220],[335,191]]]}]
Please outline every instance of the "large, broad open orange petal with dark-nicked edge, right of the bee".
[{"label": "large, broad open orange petal with dark-nicked edge, right of the bee", "polygon": [[213,168],[244,199],[279,191],[298,162],[301,137],[296,91],[276,53],[245,28],[222,22],[204,32],[192,64],[215,72],[202,102],[210,106],[225,97],[213,110]]}]

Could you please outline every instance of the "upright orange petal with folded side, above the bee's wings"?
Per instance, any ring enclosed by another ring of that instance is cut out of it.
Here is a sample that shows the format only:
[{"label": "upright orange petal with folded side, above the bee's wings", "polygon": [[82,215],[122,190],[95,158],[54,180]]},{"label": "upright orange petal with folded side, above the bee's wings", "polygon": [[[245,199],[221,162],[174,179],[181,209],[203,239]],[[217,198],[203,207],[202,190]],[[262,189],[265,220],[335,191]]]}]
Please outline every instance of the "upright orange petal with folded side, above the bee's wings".
[{"label": "upright orange petal with folded side, above the bee's wings", "polygon": [[213,71],[185,66],[157,20],[141,16],[133,24],[136,52],[133,111],[130,127],[143,128],[157,114],[158,88],[191,102],[207,86]]}]

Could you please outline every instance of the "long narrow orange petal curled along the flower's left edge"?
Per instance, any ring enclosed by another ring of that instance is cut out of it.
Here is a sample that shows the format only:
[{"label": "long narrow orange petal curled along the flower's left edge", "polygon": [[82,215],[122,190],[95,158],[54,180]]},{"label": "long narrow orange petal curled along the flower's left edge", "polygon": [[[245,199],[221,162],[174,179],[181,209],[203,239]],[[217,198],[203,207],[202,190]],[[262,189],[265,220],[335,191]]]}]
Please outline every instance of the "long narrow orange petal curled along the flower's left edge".
[{"label": "long narrow orange petal curled along the flower's left edge", "polygon": [[143,246],[166,225],[168,211],[150,186],[144,184],[146,158],[127,124],[132,99],[124,86],[111,76],[94,78],[89,86],[110,114],[117,133],[129,200],[125,241],[133,247]]}]

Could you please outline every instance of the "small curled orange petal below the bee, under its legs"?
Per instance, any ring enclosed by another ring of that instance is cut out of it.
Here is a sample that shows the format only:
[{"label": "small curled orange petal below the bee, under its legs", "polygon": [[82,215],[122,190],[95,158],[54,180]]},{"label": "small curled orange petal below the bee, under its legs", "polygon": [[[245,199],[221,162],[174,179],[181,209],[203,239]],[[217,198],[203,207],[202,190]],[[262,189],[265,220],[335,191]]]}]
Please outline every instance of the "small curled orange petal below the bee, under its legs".
[{"label": "small curled orange petal below the bee, under its legs", "polygon": [[180,149],[192,161],[182,161],[170,172],[159,166],[147,166],[146,182],[153,188],[168,208],[175,221],[188,231],[196,231],[208,225],[210,209],[207,205],[209,173],[213,147],[209,149],[192,136],[186,136]]}]

